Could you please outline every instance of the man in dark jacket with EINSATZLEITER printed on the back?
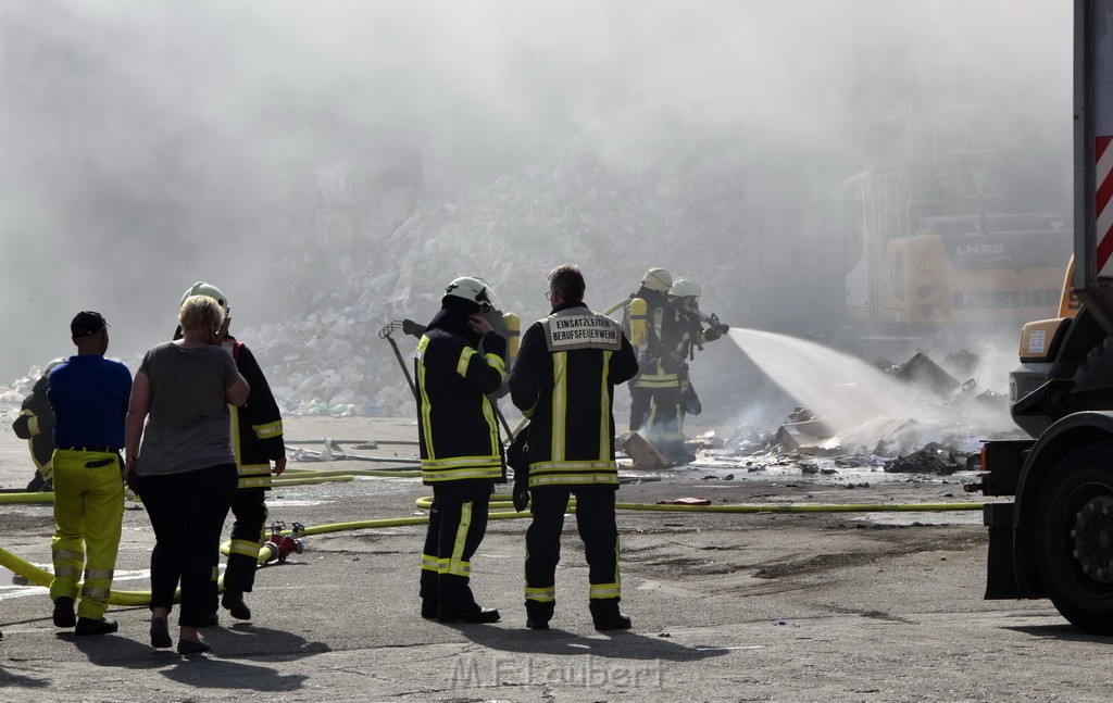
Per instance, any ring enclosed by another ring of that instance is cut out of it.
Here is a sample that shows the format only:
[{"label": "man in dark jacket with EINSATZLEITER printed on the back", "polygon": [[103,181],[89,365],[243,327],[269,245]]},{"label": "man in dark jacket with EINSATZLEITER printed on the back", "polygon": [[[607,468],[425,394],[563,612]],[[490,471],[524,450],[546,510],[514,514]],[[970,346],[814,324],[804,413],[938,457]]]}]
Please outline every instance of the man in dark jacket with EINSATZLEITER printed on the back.
[{"label": "man in dark jacket with EINSATZLEITER printed on the back", "polygon": [[570,495],[583,539],[589,607],[597,630],[626,630],[619,611],[619,534],[614,492],[614,385],[638,373],[621,326],[583,304],[580,269],[549,275],[549,317],[534,323],[510,378],[514,405],[530,418],[529,491],[533,521],[525,533],[526,626],[546,630],[556,603],[556,563]]}]

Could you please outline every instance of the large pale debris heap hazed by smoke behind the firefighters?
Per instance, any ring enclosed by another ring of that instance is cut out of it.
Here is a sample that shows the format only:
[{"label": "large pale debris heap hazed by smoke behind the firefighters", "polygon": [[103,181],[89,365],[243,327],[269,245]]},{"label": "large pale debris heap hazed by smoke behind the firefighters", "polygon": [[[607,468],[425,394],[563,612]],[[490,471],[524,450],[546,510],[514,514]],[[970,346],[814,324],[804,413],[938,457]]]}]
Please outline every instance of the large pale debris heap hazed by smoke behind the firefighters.
[{"label": "large pale debris heap hazed by smoke behind the firefighters", "polygon": [[[487,278],[525,326],[549,311],[542,294],[556,264],[581,265],[589,304],[604,309],[637,289],[648,266],[667,263],[699,271],[707,301],[741,316],[760,291],[739,286],[735,257],[725,256],[743,246],[747,159],[737,136],[682,119],[662,135],[659,125],[620,116],[521,175],[452,200],[420,194],[400,224],[347,239],[304,232],[303,249],[277,271],[289,281],[286,319],[234,331],[279,387],[285,413],[392,415],[412,414],[413,400],[377,331],[396,319],[427,323],[456,276]],[[416,344],[396,341],[406,356]]]}]

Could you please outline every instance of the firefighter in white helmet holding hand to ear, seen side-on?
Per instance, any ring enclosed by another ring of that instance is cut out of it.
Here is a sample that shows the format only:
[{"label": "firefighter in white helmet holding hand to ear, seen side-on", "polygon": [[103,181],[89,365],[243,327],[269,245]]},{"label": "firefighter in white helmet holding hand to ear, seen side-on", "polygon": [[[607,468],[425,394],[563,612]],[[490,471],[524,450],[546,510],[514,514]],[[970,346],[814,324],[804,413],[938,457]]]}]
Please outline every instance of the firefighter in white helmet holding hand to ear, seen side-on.
[{"label": "firefighter in white helmet holding hand to ear, seen side-on", "polygon": [[499,611],[476,604],[469,585],[491,493],[503,481],[502,439],[487,396],[505,378],[506,340],[483,317],[498,305],[483,279],[453,280],[414,358],[422,482],[433,487],[421,614],[446,623],[499,620]]}]

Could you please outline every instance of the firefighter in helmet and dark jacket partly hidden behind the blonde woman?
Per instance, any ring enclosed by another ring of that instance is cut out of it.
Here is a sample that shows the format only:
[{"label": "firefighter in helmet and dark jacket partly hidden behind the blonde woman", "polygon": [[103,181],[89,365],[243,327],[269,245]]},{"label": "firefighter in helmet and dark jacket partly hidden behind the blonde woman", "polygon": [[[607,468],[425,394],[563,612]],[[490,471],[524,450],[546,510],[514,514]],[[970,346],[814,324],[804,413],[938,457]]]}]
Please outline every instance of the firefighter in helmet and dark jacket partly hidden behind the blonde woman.
[{"label": "firefighter in helmet and dark jacket partly hidden behind the blonde woman", "polygon": [[[236,369],[252,387],[252,395],[244,405],[228,408],[232,412],[232,449],[236,454],[239,487],[232,501],[235,522],[232,526],[228,563],[224,571],[224,596],[220,598],[220,605],[227,608],[233,617],[250,620],[252,608],[244,602],[244,594],[250,593],[255,586],[259,547],[265,541],[264,527],[268,515],[266,492],[270,489],[272,474],[277,476],[286,469],[282,414],[255,355],[247,345],[228,331],[232,325],[232,307],[228,305],[228,298],[216,286],[198,281],[186,290],[181,299],[197,295],[208,296],[224,308],[224,325],[220,327],[221,346],[232,355],[236,362]],[[180,329],[175,338],[179,336]],[[207,596],[206,626],[219,622],[217,573],[218,564],[215,563],[214,578]]]}]

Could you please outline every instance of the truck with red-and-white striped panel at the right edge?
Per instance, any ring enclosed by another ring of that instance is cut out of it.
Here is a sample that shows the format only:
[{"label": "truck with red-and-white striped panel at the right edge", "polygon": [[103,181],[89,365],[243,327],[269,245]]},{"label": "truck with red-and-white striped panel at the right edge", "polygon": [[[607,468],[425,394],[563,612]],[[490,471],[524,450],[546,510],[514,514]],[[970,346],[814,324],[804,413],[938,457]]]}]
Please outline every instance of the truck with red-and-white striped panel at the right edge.
[{"label": "truck with red-and-white striped panel at the right edge", "polygon": [[1113,0],[1074,4],[1074,237],[1057,317],[1024,325],[1009,408],[983,444],[986,598],[1050,598],[1113,634]]}]

